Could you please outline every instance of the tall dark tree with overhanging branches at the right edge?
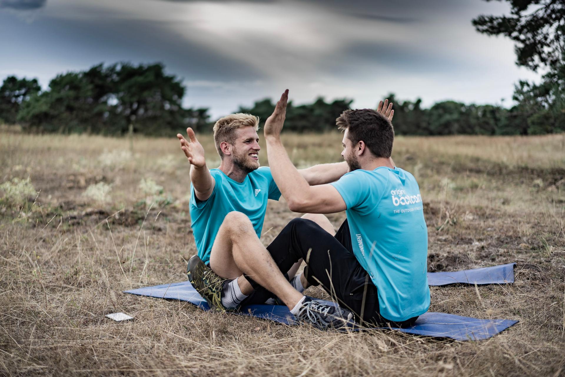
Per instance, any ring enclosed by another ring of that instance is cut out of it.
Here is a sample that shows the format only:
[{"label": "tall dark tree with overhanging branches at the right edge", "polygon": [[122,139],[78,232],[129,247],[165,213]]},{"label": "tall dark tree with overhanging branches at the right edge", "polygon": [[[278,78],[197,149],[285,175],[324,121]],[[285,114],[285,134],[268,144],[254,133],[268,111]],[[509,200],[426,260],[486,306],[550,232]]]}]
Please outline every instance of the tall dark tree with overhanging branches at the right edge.
[{"label": "tall dark tree with overhanging branches at the right edge", "polygon": [[[486,0],[490,1],[490,0]],[[515,42],[516,64],[533,71],[544,68],[540,84],[515,85],[512,107],[497,133],[531,135],[565,129],[565,2],[506,0],[510,16],[474,19],[480,33],[503,35]]]}]

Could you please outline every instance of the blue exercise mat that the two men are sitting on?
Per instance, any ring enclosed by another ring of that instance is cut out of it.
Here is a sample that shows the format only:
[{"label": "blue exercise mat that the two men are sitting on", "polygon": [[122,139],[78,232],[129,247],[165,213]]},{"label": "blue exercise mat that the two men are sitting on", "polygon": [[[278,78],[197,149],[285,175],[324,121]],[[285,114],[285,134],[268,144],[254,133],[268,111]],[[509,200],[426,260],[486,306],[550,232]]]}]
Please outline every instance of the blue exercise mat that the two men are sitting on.
[{"label": "blue exercise mat that the two men are sitting on", "polygon": [[[206,300],[195,291],[188,281],[132,289],[125,291],[125,293],[188,301],[203,310],[209,309]],[[270,319],[284,324],[294,324],[294,316],[290,314],[286,306],[281,305],[247,305],[242,307],[237,314]],[[506,330],[517,322],[517,320],[476,319],[454,314],[428,312],[420,315],[414,326],[393,328],[392,330],[455,340],[482,340]]]}]

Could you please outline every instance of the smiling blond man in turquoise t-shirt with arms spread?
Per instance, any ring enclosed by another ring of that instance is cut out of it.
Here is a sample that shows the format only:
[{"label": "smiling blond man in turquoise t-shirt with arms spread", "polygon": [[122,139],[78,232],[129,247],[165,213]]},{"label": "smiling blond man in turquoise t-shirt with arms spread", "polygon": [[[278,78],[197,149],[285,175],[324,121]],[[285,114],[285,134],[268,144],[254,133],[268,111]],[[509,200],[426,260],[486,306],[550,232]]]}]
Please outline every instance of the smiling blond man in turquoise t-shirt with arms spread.
[{"label": "smiling blond man in turquoise t-shirt with arms spread", "polygon": [[[189,272],[192,266],[192,270],[198,270],[200,280],[215,283],[207,287],[199,282],[193,285],[210,306],[219,310],[263,304],[273,293],[283,302],[302,297],[300,276],[294,276],[300,262],[283,275],[259,240],[267,201],[279,200],[281,193],[271,169],[260,167],[258,126],[259,119],[249,114],[219,119],[214,125],[214,142],[221,163],[211,170],[193,129],[186,129],[188,140],[177,135],[190,162],[190,218],[198,250],[197,258],[191,259],[192,265],[189,263]],[[347,164],[340,162],[300,172],[308,184],[318,185],[339,179],[347,169]],[[335,233],[324,215],[306,214],[303,218]],[[189,279],[193,282],[194,274],[189,274]],[[286,288],[284,292],[279,292],[280,287]]]}]

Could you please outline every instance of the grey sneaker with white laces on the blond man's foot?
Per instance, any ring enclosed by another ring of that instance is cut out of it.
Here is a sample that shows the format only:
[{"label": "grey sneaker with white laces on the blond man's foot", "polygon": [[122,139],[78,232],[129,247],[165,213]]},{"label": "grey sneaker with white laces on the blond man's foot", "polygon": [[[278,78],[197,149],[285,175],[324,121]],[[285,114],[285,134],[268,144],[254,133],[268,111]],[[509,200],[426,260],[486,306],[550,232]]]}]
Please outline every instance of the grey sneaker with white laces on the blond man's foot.
[{"label": "grey sneaker with white laces on the blond man's foot", "polygon": [[296,316],[300,322],[310,323],[320,330],[327,328],[346,329],[355,326],[355,317],[351,311],[339,306],[325,304],[324,301],[305,297]]}]

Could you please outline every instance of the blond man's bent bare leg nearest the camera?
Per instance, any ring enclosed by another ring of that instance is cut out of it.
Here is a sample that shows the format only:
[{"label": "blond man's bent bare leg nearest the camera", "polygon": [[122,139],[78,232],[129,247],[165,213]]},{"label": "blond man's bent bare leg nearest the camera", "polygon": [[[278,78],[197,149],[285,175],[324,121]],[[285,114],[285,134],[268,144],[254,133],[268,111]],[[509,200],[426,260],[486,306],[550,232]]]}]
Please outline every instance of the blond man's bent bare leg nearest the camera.
[{"label": "blond man's bent bare leg nearest the camera", "polygon": [[249,218],[240,212],[233,211],[225,216],[212,246],[210,268],[222,278],[238,278],[243,294],[251,293],[253,288],[241,275],[251,276],[275,293],[289,309],[303,297],[282,275],[271,254],[259,241]]}]

